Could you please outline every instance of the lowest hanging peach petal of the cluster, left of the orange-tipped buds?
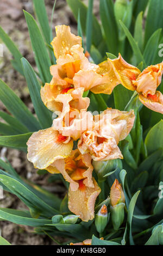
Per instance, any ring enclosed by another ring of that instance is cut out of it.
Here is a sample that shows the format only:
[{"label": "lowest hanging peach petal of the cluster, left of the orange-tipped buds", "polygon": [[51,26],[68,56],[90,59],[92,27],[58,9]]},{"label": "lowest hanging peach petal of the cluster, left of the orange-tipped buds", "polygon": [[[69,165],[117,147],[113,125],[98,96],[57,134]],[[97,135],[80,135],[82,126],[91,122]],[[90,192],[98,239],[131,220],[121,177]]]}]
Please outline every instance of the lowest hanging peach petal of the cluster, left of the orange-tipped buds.
[{"label": "lowest hanging peach petal of the cluster, left of the orange-tipped buds", "polygon": [[93,220],[95,216],[95,201],[101,192],[96,180],[93,178],[94,187],[85,187],[84,190],[78,189],[68,191],[68,208],[74,214],[78,215],[82,221]]}]

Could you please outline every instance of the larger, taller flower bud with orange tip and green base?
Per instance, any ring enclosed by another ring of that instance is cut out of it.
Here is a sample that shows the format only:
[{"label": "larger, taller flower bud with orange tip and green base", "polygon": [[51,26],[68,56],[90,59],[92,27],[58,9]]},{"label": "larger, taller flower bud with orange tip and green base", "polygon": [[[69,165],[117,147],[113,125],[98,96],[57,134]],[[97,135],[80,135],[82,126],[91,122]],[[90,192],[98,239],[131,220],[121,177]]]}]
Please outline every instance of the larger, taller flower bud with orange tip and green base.
[{"label": "larger, taller flower bud with orange tip and green base", "polygon": [[124,220],[125,197],[121,184],[115,179],[110,190],[111,221],[115,230],[120,228]]}]

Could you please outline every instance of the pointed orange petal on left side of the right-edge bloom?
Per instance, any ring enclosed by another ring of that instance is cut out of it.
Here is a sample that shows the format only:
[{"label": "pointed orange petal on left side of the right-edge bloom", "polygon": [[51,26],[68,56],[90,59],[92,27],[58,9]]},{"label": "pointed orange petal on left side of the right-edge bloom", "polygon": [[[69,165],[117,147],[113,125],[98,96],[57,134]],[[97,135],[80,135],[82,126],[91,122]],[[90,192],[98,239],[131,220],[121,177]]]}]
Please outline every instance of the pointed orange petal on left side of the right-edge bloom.
[{"label": "pointed orange petal on left side of the right-edge bloom", "polygon": [[135,66],[128,64],[119,53],[117,59],[109,59],[108,61],[112,65],[115,75],[124,87],[129,90],[135,90],[133,81],[136,80],[137,76],[141,73]]}]

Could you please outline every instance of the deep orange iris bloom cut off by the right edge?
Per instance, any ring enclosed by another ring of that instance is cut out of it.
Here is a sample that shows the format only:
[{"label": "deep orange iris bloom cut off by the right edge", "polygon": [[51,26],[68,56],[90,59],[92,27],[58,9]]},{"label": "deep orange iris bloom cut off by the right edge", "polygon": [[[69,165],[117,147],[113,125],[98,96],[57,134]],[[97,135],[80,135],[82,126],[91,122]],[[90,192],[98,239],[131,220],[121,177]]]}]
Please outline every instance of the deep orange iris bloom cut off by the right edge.
[{"label": "deep orange iris bloom cut off by the right edge", "polygon": [[142,72],[128,64],[119,54],[116,59],[108,59],[114,70],[115,81],[119,81],[129,90],[136,90],[139,99],[147,108],[163,114],[163,95],[156,90],[161,83],[163,62],[148,66]]}]

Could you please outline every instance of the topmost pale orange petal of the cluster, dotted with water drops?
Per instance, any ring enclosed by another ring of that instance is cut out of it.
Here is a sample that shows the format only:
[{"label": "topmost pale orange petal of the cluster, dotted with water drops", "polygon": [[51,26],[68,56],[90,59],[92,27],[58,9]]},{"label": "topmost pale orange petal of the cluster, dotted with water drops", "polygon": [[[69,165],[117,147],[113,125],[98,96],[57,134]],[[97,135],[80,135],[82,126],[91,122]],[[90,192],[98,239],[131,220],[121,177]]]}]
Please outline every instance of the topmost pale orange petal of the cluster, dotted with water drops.
[{"label": "topmost pale orange petal of the cluster, dotted with water drops", "polygon": [[70,27],[61,25],[55,27],[56,37],[51,42],[54,50],[55,57],[58,59],[59,56],[69,53],[73,45],[82,46],[82,38],[71,33]]}]

